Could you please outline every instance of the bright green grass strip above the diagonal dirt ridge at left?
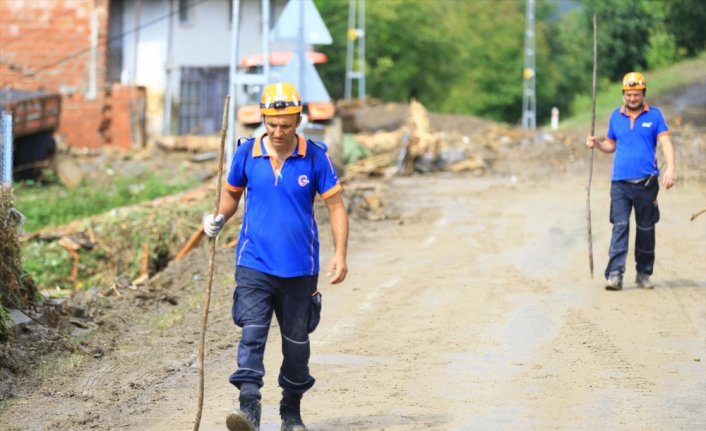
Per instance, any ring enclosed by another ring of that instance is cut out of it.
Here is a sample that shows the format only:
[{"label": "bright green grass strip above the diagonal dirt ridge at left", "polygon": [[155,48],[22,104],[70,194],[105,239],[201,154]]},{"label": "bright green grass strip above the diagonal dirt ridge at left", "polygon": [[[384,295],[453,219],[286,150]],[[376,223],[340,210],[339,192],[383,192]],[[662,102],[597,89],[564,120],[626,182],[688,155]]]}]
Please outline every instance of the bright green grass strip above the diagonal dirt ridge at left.
[{"label": "bright green grass strip above the diagonal dirt ridge at left", "polygon": [[27,217],[25,231],[58,226],[126,205],[138,204],[196,186],[186,175],[164,176],[152,172],[116,177],[107,185],[85,181],[75,189],[61,184],[20,183],[15,188],[17,209]]}]

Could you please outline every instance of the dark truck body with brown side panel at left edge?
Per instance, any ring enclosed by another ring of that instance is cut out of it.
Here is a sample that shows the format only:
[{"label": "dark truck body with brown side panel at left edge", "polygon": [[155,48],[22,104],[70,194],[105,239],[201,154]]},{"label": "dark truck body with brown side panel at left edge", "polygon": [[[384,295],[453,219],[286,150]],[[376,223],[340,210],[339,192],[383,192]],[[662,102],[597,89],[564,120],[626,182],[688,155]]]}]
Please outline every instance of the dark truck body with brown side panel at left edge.
[{"label": "dark truck body with brown side panel at left edge", "polygon": [[12,113],[13,178],[37,178],[56,152],[61,95],[0,89],[0,110]]}]

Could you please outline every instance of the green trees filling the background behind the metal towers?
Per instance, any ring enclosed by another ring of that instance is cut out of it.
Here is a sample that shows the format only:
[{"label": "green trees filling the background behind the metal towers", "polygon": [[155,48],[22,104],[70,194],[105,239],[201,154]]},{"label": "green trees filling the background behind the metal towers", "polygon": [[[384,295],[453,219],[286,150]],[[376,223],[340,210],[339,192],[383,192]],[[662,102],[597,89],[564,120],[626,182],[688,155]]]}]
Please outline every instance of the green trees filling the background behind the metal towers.
[{"label": "green trees filling the background behind the metal towers", "polygon": [[[316,0],[334,42],[322,79],[343,97],[348,0]],[[416,98],[427,109],[518,123],[522,116],[525,0],[366,2],[366,93]],[[556,106],[568,118],[591,94],[593,15],[600,90],[633,70],[651,71],[706,50],[702,0],[538,0],[537,118]],[[648,78],[651,79],[651,78]],[[651,84],[652,85],[652,81]],[[354,87],[355,90],[355,87]],[[355,93],[355,91],[354,91]]]}]

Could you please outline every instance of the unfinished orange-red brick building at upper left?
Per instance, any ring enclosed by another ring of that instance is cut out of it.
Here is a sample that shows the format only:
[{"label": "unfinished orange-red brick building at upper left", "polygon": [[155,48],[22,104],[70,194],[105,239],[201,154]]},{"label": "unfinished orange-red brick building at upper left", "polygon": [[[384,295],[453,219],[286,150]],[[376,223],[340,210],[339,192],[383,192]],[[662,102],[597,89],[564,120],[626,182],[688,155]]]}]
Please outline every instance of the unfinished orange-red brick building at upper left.
[{"label": "unfinished orange-red brick building at upper left", "polygon": [[0,0],[0,87],[61,94],[68,147],[144,143],[144,88],[109,74],[110,3]]}]

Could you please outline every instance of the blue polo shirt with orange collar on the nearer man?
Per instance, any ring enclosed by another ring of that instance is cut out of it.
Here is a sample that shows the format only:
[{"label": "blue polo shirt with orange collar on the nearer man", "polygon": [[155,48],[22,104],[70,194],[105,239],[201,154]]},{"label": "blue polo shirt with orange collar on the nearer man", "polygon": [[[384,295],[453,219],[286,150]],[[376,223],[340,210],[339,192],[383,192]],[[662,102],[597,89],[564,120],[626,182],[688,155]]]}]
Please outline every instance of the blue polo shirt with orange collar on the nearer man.
[{"label": "blue polo shirt with orange collar on the nearer man", "polygon": [[314,199],[341,190],[336,169],[324,144],[300,135],[292,154],[278,167],[267,154],[265,136],[240,145],[228,172],[226,187],[245,190],[235,264],[277,277],[318,274]]}]

